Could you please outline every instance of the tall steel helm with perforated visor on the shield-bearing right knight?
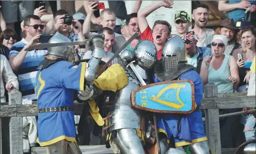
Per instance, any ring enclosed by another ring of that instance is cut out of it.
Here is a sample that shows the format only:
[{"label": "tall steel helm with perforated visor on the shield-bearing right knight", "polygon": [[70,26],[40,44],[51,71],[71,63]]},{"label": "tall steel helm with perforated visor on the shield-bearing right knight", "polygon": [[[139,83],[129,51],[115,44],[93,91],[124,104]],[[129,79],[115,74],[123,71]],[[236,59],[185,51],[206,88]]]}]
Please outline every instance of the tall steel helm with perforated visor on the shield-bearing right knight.
[{"label": "tall steel helm with perforated visor on the shield-bearing right knight", "polygon": [[175,36],[166,41],[162,50],[162,64],[165,76],[177,72],[186,63],[186,47],[181,37]]}]

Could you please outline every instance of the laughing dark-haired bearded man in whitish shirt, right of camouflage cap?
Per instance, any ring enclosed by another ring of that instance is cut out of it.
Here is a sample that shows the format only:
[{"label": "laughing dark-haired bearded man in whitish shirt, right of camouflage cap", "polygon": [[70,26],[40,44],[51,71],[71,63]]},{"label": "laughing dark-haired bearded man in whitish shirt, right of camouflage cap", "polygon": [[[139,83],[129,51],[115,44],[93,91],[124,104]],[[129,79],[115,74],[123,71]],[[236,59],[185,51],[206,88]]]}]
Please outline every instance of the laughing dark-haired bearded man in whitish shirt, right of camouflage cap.
[{"label": "laughing dark-haired bearded man in whitish shirt, right of camouflage cap", "polygon": [[195,20],[195,27],[192,29],[195,32],[195,37],[198,40],[198,47],[206,47],[211,43],[214,36],[214,30],[205,28],[209,19],[209,7],[204,4],[195,6],[192,19]]}]

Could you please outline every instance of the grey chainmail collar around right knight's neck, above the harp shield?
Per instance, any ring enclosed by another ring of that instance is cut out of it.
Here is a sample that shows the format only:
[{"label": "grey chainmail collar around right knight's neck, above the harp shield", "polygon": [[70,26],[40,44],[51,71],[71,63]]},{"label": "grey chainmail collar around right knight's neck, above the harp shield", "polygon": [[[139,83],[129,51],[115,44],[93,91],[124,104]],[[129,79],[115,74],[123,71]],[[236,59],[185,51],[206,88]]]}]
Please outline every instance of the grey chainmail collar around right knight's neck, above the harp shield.
[{"label": "grey chainmail collar around right knight's neck, above the harp shield", "polygon": [[190,69],[196,70],[192,65],[186,64],[178,71],[171,73],[169,76],[165,76],[165,69],[163,69],[162,62],[159,60],[154,65],[154,76],[157,77],[160,81],[172,81],[177,80],[181,74],[187,72]]}]

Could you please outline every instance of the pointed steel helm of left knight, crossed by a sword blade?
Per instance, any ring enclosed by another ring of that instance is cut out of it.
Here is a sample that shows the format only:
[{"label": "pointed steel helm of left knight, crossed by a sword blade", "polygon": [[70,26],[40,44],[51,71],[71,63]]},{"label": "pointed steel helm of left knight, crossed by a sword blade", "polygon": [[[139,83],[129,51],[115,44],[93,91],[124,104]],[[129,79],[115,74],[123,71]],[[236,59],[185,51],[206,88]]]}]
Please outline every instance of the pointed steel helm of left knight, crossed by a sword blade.
[{"label": "pointed steel helm of left knight, crossed by a sword blade", "polygon": [[[64,35],[56,32],[54,36],[49,40],[48,43],[64,43],[72,42],[69,38]],[[74,59],[74,46],[57,46],[57,47],[48,47],[48,52],[46,55],[52,55],[57,58],[62,58],[67,61]]]}]

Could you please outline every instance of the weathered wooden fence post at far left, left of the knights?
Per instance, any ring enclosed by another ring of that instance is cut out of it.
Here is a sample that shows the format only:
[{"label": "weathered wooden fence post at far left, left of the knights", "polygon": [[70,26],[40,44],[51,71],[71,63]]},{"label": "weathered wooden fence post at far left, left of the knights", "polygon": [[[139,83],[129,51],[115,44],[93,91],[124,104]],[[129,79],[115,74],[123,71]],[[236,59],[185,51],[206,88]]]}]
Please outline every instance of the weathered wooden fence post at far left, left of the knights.
[{"label": "weathered wooden fence post at far left, left of the knights", "polygon": [[[9,93],[9,105],[22,104],[22,93],[14,89]],[[17,113],[16,113],[17,114]],[[23,154],[23,117],[10,119],[10,153]]]}]

